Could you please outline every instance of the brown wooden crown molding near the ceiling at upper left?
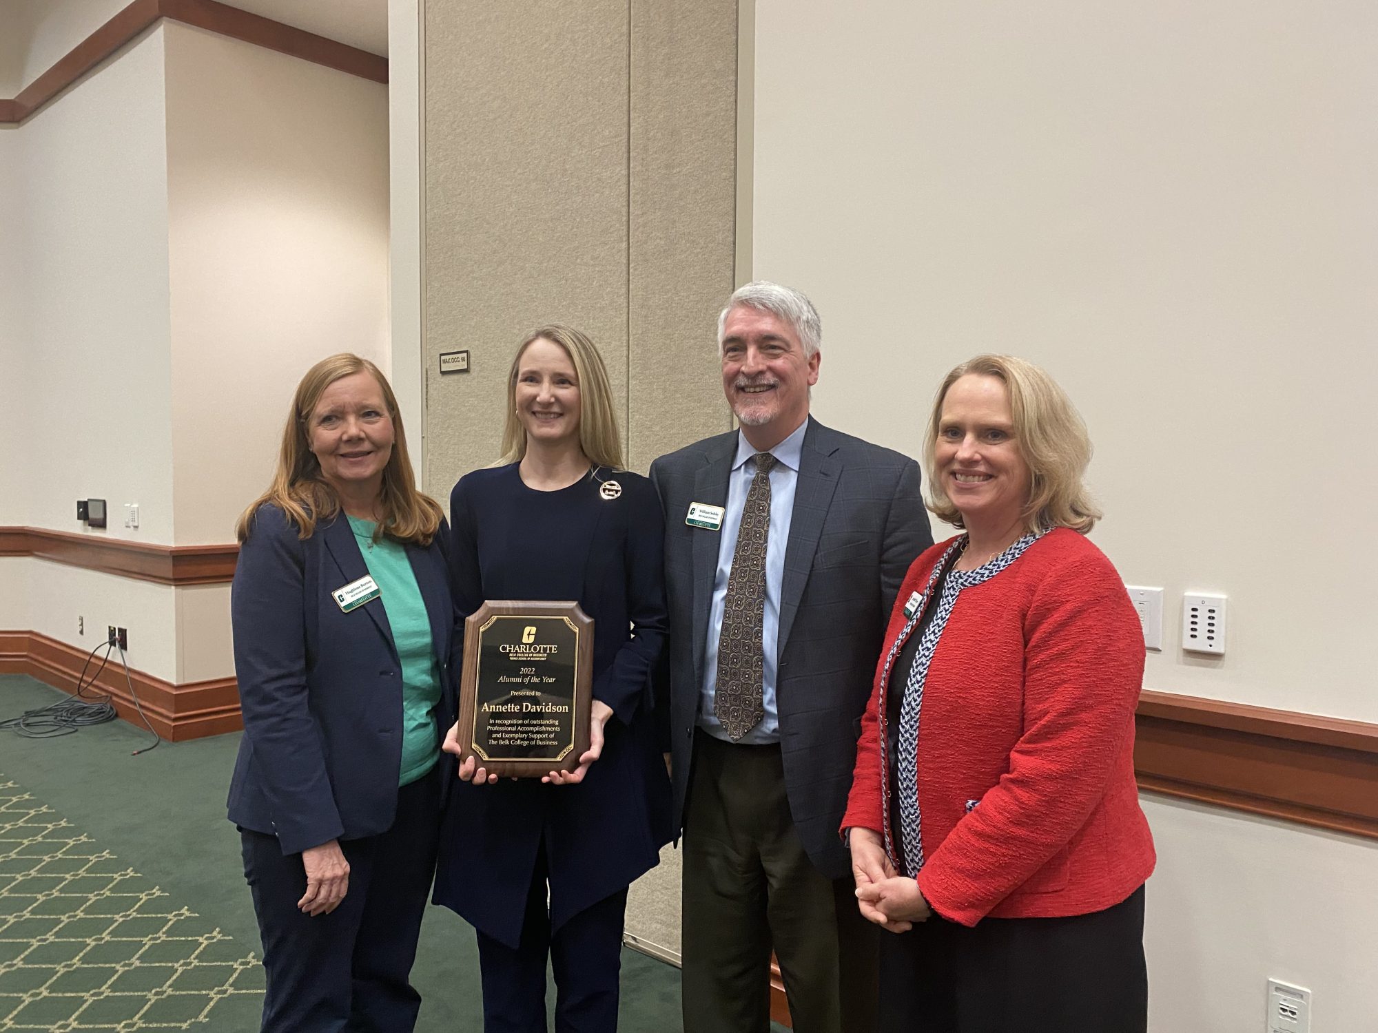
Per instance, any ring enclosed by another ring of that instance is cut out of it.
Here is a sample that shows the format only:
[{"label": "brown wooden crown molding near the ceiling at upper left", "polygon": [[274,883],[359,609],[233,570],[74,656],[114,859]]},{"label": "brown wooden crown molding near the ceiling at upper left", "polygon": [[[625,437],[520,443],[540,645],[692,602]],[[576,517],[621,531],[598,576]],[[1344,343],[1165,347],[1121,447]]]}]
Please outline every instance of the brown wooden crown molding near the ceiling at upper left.
[{"label": "brown wooden crown molding near the ceiling at upper left", "polygon": [[0,99],[0,123],[22,123],[161,18],[289,54],[373,83],[387,83],[387,58],[271,18],[215,0],[134,0],[21,90],[18,96]]}]

